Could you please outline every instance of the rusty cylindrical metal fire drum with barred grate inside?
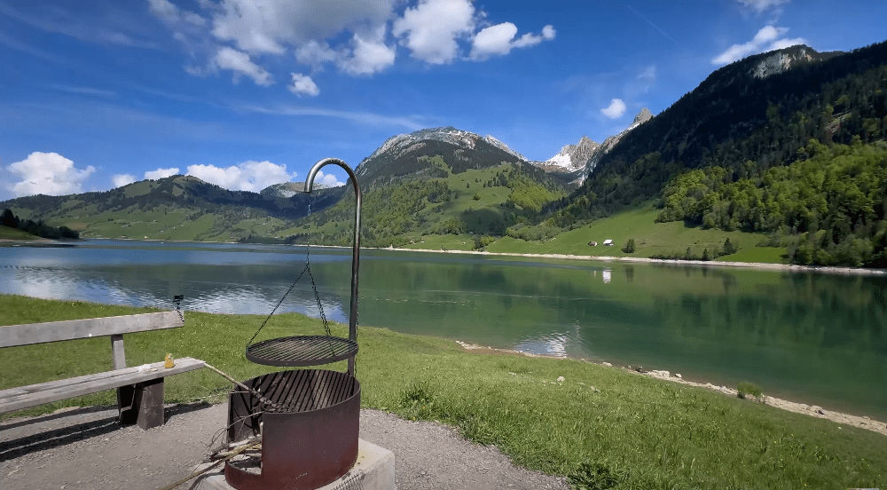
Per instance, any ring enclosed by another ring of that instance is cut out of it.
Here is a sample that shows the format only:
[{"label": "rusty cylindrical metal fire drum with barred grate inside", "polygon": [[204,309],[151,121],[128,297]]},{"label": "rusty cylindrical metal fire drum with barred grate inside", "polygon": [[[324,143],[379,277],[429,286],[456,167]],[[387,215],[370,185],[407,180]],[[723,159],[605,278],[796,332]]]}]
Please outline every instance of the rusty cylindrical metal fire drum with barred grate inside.
[{"label": "rusty cylindrical metal fire drum with barred grate inside", "polygon": [[239,490],[314,490],[334,482],[357,461],[360,383],[327,369],[300,369],[244,382],[284,408],[266,408],[251,393],[232,391],[229,441],[258,435],[261,472],[225,464],[225,479]]}]

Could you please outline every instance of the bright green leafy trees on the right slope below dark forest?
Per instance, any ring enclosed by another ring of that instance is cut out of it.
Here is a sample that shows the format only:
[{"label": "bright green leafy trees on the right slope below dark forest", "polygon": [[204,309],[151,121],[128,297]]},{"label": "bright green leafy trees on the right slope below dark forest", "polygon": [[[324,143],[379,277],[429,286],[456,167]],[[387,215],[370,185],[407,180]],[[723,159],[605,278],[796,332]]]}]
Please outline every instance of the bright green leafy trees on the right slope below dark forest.
[{"label": "bright green leafy trees on the right slope below dark forest", "polygon": [[768,233],[794,264],[887,267],[887,142],[811,139],[797,153],[735,181],[720,166],[687,171],[664,187],[656,221]]}]

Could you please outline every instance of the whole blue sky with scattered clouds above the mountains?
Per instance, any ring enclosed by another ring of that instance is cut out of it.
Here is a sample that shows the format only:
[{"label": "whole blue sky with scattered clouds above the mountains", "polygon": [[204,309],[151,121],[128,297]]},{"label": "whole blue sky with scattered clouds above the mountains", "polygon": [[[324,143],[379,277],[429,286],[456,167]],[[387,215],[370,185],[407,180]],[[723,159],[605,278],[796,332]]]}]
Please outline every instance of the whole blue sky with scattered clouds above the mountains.
[{"label": "whole blue sky with scattered clouds above the mountains", "polygon": [[173,173],[257,192],[436,126],[546,160],[642,107],[662,112],[735,59],[881,42],[883,12],[883,0],[0,0],[0,200]]}]

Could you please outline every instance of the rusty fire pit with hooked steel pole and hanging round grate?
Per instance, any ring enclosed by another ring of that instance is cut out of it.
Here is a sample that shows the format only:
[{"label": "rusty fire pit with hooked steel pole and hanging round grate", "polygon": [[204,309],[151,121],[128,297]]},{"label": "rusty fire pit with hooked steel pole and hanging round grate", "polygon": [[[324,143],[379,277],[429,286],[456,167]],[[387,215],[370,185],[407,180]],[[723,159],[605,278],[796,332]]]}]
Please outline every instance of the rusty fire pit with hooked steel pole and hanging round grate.
[{"label": "rusty fire pit with hooked steel pole and hanging round grate", "polygon": [[[326,336],[272,338],[247,345],[246,356],[258,364],[279,367],[318,366],[347,359],[348,372],[279,371],[245,381],[248,391],[232,390],[228,404],[229,443],[256,436],[262,441],[260,457],[225,462],[225,480],[239,490],[315,490],[341,478],[357,461],[360,383],[354,376],[354,360],[361,200],[354,172],[334,158],[311,167],[305,179],[305,192],[311,192],[318,170],[330,163],[348,173],[356,198],[349,338],[330,335],[315,288]],[[305,270],[310,276],[307,263]],[[313,277],[311,284],[314,285]]]}]

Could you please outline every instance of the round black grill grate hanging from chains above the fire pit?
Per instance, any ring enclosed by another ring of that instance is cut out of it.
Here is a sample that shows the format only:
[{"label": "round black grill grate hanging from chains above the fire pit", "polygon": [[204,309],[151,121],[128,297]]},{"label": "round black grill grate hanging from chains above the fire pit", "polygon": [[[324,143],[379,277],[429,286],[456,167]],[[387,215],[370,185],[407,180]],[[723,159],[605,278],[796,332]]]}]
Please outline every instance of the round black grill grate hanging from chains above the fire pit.
[{"label": "round black grill grate hanging from chains above the fire pit", "polygon": [[318,366],[357,355],[357,342],[337,336],[271,338],[247,346],[247,360],[265,366]]}]

